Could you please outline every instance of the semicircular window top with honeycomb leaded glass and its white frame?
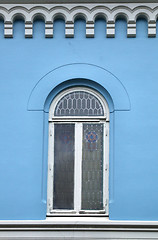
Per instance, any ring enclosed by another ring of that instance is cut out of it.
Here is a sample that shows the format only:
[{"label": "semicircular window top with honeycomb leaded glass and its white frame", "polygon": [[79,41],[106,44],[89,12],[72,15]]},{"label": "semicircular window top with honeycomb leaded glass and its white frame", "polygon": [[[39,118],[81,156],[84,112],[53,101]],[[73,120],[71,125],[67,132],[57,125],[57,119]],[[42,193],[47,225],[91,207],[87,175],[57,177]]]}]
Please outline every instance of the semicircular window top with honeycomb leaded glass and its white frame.
[{"label": "semicircular window top with honeycomb leaded glass and its white frame", "polygon": [[50,117],[107,117],[107,103],[96,91],[76,87],[59,94],[50,107]]}]

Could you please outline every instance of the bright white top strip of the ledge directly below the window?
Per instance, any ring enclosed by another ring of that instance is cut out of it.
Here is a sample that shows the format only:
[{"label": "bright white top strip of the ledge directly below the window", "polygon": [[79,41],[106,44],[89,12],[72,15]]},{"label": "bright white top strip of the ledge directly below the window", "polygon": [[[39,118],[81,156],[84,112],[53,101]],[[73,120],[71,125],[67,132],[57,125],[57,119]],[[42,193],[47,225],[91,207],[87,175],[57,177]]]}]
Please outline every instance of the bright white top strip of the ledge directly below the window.
[{"label": "bright white top strip of the ledge directly below the window", "polygon": [[[97,221],[96,221],[97,220]],[[124,227],[128,227],[128,228],[135,228],[135,227],[139,227],[139,229],[141,228],[146,228],[148,230],[150,230],[149,228],[153,227],[153,231],[157,231],[158,232],[158,221],[139,221],[139,220],[110,220],[108,217],[76,217],[74,216],[72,217],[65,217],[65,216],[58,216],[58,217],[46,217],[46,219],[43,220],[0,220],[0,230],[2,230],[3,228],[5,229],[6,225],[7,227],[12,227],[13,225],[17,225],[18,228],[22,228],[22,227],[27,227],[29,225],[31,225],[32,227],[37,226],[38,227],[43,227],[43,226],[50,226],[52,225],[58,225],[60,224],[67,224],[69,223],[70,226],[72,224],[75,225],[82,225],[82,224],[91,224],[92,226],[96,227],[96,226],[111,226],[111,227],[120,227],[122,226],[122,228]]]}]

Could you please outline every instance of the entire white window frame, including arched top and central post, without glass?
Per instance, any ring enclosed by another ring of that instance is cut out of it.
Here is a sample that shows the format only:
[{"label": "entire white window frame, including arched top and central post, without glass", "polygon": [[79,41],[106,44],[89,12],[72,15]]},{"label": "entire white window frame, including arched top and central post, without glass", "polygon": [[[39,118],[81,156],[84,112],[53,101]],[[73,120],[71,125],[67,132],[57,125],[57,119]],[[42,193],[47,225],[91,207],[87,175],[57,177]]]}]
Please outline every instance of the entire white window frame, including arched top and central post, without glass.
[{"label": "entire white window frame, including arched top and central post, without glass", "polygon": [[[58,101],[66,94],[74,91],[86,91],[98,98],[104,109],[104,116],[54,116]],[[71,123],[75,125],[75,162],[74,162],[74,210],[53,209],[53,172],[54,172],[54,124]],[[82,188],[82,134],[84,123],[103,124],[103,210],[81,210]],[[49,111],[49,142],[48,142],[48,188],[47,188],[47,215],[60,214],[88,216],[95,214],[109,214],[109,108],[101,94],[86,87],[72,87],[57,95],[52,101]]]}]

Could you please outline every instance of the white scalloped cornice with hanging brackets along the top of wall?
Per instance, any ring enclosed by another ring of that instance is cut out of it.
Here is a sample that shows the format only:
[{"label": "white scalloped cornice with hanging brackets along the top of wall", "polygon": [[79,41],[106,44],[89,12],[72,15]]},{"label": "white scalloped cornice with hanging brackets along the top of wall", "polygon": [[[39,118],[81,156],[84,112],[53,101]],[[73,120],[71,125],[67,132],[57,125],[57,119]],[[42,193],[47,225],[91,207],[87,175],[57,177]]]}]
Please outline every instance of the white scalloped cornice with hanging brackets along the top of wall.
[{"label": "white scalloped cornice with hanging brackets along the top of wall", "polygon": [[[3,0],[0,0],[0,3]],[[49,0],[48,0],[49,1]],[[54,0],[50,1],[53,2]],[[0,4],[0,16],[4,19],[4,36],[13,37],[13,22],[22,16],[25,21],[25,37],[33,36],[33,21],[36,16],[45,20],[45,36],[53,37],[53,22],[56,17],[65,20],[65,37],[74,36],[74,21],[80,16],[86,20],[86,37],[94,37],[94,23],[97,17],[103,17],[107,22],[107,37],[115,37],[115,21],[124,17],[127,21],[127,37],[136,36],[136,20],[143,16],[148,21],[148,37],[156,36],[156,21],[158,16],[158,0],[152,3],[142,1],[123,3],[10,3]],[[5,1],[7,2],[7,1]],[[11,2],[11,1],[10,1]],[[44,1],[45,2],[45,1]]]}]

